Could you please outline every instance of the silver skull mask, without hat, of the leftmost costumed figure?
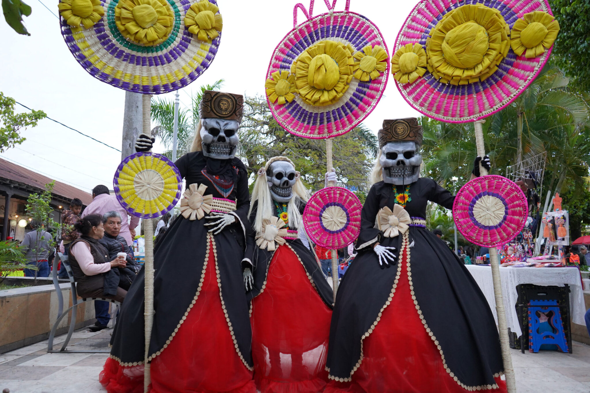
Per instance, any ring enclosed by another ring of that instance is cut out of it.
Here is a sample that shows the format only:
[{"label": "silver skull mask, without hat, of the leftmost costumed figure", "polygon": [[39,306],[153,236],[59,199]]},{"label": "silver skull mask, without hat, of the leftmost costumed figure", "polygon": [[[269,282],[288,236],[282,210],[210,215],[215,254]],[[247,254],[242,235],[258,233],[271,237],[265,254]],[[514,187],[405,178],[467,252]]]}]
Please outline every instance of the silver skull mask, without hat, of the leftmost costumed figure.
[{"label": "silver skull mask, without hat, of the leftmost costumed figure", "polygon": [[227,160],[234,158],[238,146],[237,120],[204,118],[201,123],[201,145],[205,157]]}]

